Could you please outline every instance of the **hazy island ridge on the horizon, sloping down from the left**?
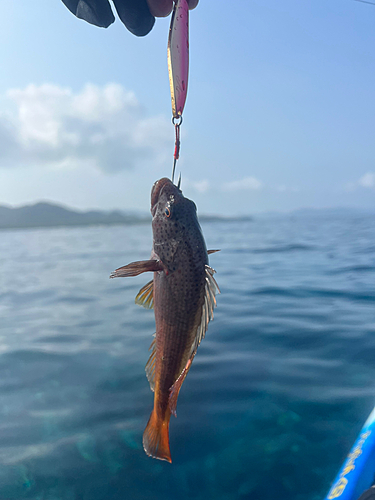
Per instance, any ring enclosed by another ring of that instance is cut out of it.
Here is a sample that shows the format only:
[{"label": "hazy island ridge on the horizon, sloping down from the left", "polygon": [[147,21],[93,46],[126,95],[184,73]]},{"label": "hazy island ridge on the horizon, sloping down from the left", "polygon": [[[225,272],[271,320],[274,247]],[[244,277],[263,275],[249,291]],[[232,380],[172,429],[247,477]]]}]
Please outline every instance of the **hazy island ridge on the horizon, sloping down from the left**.
[{"label": "hazy island ridge on the horizon, sloping down from the left", "polygon": [[[252,220],[251,217],[220,217],[202,215],[202,222]],[[7,207],[0,205],[0,229],[94,226],[113,224],[145,224],[151,222],[151,215],[126,213],[120,210],[73,210],[54,203],[40,202],[23,207]]]}]

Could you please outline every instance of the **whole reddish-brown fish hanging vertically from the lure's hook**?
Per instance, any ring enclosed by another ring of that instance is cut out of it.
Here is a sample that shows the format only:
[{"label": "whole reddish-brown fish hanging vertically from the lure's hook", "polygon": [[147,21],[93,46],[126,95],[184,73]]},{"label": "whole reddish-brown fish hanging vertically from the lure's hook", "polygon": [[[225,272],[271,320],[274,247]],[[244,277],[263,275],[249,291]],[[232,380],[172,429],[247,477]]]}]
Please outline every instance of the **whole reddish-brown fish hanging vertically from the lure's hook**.
[{"label": "whole reddish-brown fish hanging vertically from the lure's hook", "polygon": [[137,304],[154,309],[156,325],[145,368],[154,407],[143,433],[143,448],[148,456],[171,463],[170,417],[177,416],[181,386],[214,317],[220,289],[208,255],[219,250],[207,251],[195,203],[170,179],[153,185],[151,214],[150,259],[120,267],[110,277],[154,273],[135,298]]}]

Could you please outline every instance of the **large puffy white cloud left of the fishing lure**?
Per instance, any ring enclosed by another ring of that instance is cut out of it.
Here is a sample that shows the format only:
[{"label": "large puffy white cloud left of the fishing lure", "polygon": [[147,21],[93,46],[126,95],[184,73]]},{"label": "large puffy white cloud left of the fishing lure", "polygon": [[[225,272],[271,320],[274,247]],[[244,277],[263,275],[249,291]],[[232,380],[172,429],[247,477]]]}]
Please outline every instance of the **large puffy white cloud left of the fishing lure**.
[{"label": "large puffy white cloud left of the fishing lure", "polygon": [[15,110],[0,115],[0,168],[90,164],[114,172],[167,157],[169,120],[145,116],[135,94],[121,85],[88,84],[78,93],[29,85],[7,97]]}]

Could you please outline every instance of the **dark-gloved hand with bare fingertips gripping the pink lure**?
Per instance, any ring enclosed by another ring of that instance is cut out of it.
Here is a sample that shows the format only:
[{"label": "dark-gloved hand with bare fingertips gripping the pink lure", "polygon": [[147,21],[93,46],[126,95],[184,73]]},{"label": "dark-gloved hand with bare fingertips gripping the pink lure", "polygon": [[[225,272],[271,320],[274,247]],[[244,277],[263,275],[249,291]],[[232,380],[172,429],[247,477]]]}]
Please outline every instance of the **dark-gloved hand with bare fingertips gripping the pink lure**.
[{"label": "dark-gloved hand with bare fingertips gripping the pink lure", "polygon": [[[90,24],[108,28],[115,20],[108,0],[62,0],[75,16]],[[188,0],[194,9],[199,0]],[[147,35],[155,17],[165,17],[173,8],[173,0],[113,0],[117,14],[129,31],[137,36]]]}]

